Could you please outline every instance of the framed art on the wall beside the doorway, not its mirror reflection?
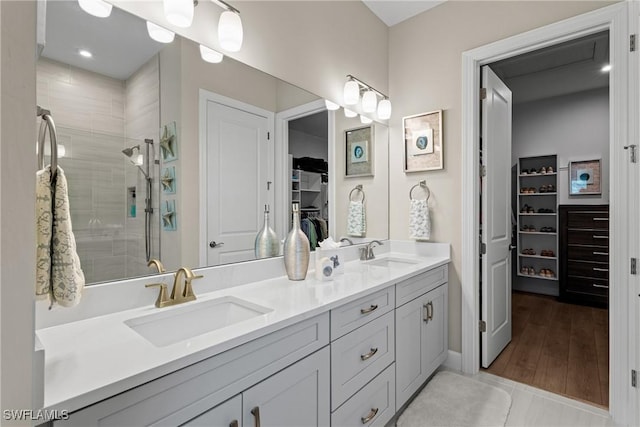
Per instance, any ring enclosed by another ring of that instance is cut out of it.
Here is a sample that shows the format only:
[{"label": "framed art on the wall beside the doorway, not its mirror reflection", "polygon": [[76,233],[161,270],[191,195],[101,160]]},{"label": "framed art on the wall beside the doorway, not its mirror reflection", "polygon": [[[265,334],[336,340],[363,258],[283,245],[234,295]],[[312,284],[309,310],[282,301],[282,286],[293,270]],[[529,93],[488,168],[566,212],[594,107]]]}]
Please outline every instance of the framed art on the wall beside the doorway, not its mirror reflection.
[{"label": "framed art on the wall beside the doorway, not its mirror reflection", "polygon": [[404,129],[404,171],[444,169],[442,110],[402,119]]}]

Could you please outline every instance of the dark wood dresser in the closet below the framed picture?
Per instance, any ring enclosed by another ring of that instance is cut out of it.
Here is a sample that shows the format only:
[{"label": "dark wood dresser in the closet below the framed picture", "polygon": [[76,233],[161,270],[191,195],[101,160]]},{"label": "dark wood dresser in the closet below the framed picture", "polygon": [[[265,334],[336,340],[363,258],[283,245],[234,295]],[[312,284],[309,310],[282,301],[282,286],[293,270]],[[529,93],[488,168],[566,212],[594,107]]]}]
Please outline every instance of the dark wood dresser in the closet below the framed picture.
[{"label": "dark wood dresser in the closet below the framed picture", "polygon": [[560,205],[560,299],[608,305],[609,205]]}]

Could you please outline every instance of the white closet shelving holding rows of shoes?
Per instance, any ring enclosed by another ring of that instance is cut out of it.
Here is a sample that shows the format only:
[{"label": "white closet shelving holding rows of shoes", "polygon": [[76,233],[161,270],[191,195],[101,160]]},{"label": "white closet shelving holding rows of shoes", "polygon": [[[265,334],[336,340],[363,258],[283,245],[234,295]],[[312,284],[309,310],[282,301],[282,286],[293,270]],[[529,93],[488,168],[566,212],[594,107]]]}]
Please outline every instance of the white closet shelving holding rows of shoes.
[{"label": "white closet shelving holding rows of shoes", "polygon": [[520,277],[558,280],[557,177],[555,155],[521,157],[518,161],[517,274]]}]

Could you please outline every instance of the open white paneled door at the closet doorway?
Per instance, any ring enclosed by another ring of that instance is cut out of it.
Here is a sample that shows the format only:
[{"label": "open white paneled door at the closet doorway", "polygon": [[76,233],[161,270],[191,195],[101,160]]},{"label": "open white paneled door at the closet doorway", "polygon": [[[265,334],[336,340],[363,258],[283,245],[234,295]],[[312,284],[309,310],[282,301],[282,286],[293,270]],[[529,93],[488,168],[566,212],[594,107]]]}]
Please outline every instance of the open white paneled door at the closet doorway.
[{"label": "open white paneled door at the closet doorway", "polygon": [[511,91],[482,67],[482,366],[511,341]]}]

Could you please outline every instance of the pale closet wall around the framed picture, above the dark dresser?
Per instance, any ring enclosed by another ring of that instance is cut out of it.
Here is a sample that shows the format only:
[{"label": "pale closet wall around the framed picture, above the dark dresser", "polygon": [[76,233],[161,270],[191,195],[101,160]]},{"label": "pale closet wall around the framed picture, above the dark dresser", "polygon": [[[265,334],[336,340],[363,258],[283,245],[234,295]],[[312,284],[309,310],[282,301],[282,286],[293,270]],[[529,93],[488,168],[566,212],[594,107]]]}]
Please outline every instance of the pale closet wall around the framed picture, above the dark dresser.
[{"label": "pale closet wall around the framed picture, above the dark dresser", "polygon": [[[609,203],[609,88],[513,106],[512,164],[558,155],[558,204]],[[569,196],[568,163],[601,159],[602,194]]]}]

